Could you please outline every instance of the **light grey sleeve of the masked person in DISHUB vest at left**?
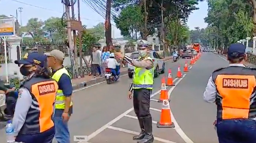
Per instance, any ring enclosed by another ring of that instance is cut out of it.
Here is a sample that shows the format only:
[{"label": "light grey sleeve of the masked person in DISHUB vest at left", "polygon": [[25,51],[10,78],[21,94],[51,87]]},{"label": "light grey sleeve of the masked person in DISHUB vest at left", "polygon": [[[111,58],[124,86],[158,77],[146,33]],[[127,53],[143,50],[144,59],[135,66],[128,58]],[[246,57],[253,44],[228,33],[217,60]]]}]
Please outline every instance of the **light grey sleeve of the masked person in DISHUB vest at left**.
[{"label": "light grey sleeve of the masked person in DISHUB vest at left", "polygon": [[29,111],[31,104],[32,98],[30,92],[26,88],[20,88],[19,97],[15,106],[14,118],[12,119],[15,136],[18,135],[25,123],[27,112]]}]

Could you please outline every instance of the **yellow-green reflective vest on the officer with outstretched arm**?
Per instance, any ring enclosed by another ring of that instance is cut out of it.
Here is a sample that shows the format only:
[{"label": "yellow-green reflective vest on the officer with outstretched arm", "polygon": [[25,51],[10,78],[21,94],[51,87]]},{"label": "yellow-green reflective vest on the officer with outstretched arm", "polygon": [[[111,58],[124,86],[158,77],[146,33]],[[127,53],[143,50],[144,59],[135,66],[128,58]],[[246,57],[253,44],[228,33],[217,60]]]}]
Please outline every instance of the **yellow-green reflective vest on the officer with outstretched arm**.
[{"label": "yellow-green reflective vest on the officer with outstretched arm", "polygon": [[[146,57],[143,60],[151,60],[153,62],[151,57]],[[146,88],[152,90],[154,84],[154,67],[151,69],[135,67],[132,80],[133,89]]]}]

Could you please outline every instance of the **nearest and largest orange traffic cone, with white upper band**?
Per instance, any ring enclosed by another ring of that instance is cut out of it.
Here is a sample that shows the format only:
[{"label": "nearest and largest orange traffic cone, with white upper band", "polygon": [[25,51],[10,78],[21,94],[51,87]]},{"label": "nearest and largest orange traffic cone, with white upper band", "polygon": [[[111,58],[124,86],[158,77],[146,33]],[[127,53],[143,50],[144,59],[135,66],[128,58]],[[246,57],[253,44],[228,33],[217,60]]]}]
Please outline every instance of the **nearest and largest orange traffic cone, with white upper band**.
[{"label": "nearest and largest orange traffic cone, with white upper band", "polygon": [[171,110],[170,110],[170,104],[168,99],[163,100],[160,122],[157,122],[157,127],[158,128],[174,128],[175,127],[171,119]]}]

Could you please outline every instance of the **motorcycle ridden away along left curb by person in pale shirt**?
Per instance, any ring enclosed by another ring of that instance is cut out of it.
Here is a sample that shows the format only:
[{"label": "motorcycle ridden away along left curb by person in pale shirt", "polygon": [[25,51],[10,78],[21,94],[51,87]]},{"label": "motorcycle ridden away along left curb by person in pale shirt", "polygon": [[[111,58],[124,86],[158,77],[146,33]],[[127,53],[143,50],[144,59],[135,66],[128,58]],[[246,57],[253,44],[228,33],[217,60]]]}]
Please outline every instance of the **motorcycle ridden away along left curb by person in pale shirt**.
[{"label": "motorcycle ridden away along left curb by person in pale shirt", "polygon": [[114,69],[116,71],[116,76],[113,74],[113,69],[112,68],[106,68],[105,69],[105,79],[107,84],[110,84],[112,82],[116,82],[119,78],[120,78],[120,66],[116,66],[116,69]]}]

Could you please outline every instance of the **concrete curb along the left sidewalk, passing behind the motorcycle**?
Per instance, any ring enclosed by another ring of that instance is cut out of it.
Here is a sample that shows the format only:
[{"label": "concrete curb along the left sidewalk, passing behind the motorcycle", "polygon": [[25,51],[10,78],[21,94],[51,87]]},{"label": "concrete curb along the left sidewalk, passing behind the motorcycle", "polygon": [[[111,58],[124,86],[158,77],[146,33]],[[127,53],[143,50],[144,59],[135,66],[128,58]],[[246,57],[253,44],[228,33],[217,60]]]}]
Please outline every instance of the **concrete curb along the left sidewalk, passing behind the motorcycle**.
[{"label": "concrete curb along the left sidewalk, passing behind the motorcycle", "polygon": [[[172,56],[168,56],[168,57],[169,58],[166,58],[165,62],[172,58]],[[125,74],[128,74],[127,70],[120,72],[120,76],[125,75]],[[105,80],[106,80],[105,76],[102,76],[102,77],[97,78],[95,80],[89,80],[89,81],[80,82],[78,84],[73,84],[72,87],[73,87],[73,90],[77,90],[79,88],[83,88],[83,87],[91,86],[93,84],[104,82]]]}]

